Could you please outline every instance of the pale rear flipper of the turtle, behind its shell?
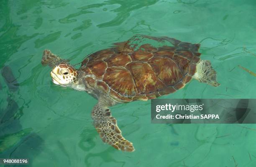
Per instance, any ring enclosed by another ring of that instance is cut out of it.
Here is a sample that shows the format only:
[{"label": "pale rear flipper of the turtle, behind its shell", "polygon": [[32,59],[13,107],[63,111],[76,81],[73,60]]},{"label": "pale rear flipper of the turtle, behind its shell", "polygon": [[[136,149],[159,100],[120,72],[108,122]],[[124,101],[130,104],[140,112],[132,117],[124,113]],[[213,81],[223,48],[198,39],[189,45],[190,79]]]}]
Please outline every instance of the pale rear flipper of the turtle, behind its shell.
[{"label": "pale rear flipper of the turtle, behind its shell", "polygon": [[201,60],[197,63],[197,72],[193,78],[199,82],[205,82],[214,87],[220,86],[217,82],[217,73],[213,70],[209,60]]}]

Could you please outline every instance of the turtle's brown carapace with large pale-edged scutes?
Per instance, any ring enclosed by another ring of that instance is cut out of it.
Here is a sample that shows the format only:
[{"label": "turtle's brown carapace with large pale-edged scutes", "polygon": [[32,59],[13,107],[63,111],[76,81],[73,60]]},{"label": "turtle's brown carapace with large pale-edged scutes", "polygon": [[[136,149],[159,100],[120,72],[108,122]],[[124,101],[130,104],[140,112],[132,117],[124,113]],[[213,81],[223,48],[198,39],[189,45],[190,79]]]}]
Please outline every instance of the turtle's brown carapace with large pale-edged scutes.
[{"label": "turtle's brown carapace with large pale-edged scutes", "polygon": [[168,40],[173,46],[143,44],[134,50],[129,42],[116,43],[83,60],[81,70],[95,76],[85,80],[118,102],[148,100],[181,89],[195,74],[200,44],[168,37],[153,40]]}]

